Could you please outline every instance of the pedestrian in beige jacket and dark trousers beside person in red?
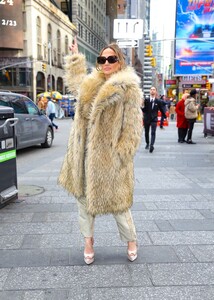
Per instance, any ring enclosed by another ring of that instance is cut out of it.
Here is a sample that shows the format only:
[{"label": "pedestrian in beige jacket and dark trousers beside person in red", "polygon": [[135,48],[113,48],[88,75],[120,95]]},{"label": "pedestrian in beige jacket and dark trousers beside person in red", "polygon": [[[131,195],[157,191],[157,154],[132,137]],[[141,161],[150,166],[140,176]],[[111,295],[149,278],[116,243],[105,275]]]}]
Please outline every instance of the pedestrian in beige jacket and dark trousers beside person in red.
[{"label": "pedestrian in beige jacket and dark trousers beside person in red", "polygon": [[187,144],[196,144],[192,141],[192,132],[198,116],[198,105],[196,104],[196,89],[190,91],[190,96],[185,100],[185,117],[189,123],[187,132]]}]

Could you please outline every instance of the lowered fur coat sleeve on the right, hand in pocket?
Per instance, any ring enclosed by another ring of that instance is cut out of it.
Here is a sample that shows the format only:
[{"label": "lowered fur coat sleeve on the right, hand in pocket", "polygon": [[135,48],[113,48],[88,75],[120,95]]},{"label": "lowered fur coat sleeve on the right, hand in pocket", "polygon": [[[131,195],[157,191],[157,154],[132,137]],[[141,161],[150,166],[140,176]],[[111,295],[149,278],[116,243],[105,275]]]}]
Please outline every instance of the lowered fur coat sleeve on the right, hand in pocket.
[{"label": "lowered fur coat sleeve on the right, hand in pocket", "polygon": [[137,151],[142,134],[142,96],[137,92],[130,95],[130,100],[124,104],[123,125],[116,150],[123,162],[133,158]]}]

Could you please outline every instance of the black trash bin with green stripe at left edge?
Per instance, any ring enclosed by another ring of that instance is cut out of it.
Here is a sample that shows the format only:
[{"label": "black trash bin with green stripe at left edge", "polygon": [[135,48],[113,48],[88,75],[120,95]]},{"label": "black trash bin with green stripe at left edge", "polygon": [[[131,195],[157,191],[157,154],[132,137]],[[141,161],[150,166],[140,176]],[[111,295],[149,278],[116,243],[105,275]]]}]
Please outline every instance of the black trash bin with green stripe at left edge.
[{"label": "black trash bin with green stripe at left edge", "polygon": [[18,198],[15,127],[11,107],[0,106],[0,208]]}]

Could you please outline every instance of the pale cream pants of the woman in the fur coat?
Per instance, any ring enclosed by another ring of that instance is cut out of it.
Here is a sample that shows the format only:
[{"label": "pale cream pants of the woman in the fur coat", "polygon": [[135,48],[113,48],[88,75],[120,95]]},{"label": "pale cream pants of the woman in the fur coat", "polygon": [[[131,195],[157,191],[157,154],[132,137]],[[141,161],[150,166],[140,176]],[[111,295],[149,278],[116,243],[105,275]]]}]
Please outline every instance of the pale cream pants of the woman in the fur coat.
[{"label": "pale cream pants of the woman in the fur coat", "polygon": [[[93,237],[95,217],[87,213],[85,197],[78,198],[77,205],[79,209],[80,231],[84,237]],[[136,241],[136,230],[131,211],[128,210],[121,214],[113,214],[113,217],[117,223],[121,240],[124,242]]]}]

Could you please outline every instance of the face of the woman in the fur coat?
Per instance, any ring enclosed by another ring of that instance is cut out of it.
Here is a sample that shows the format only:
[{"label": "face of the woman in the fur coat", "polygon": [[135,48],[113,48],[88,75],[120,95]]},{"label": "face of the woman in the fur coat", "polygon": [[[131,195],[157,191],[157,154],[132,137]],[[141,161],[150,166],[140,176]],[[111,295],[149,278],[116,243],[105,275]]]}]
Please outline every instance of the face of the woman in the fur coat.
[{"label": "face of the woman in the fur coat", "polygon": [[[116,56],[115,52],[107,48],[103,51],[101,56],[108,58],[109,56]],[[121,69],[120,62],[116,61],[115,63],[109,63],[107,60],[104,64],[100,64],[100,69],[104,73],[106,79],[109,78],[113,73],[119,71]]]}]

